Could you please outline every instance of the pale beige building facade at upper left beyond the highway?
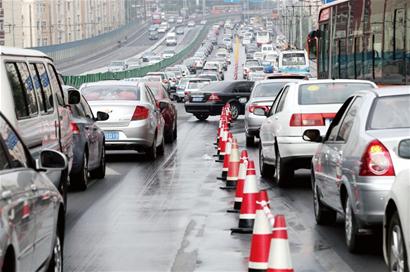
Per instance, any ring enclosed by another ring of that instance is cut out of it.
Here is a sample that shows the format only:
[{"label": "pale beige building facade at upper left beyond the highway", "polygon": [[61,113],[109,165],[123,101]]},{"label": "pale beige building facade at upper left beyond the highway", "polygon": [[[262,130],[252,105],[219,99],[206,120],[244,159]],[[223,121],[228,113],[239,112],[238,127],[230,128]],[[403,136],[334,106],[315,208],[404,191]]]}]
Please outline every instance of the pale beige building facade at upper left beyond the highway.
[{"label": "pale beige building facade at upper left beyond the highway", "polygon": [[127,0],[2,1],[6,46],[61,44],[94,37],[126,23]]}]

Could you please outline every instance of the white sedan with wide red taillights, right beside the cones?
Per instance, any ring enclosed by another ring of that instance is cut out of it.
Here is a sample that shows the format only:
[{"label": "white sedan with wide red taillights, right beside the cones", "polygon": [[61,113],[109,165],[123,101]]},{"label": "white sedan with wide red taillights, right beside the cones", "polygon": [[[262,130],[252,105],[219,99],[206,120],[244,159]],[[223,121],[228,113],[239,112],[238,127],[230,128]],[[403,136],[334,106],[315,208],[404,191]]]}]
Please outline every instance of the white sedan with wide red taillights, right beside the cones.
[{"label": "white sedan with wide red taillights, right beside the cones", "polygon": [[[309,80],[286,84],[276,96],[260,129],[261,174],[278,185],[293,171],[309,168],[318,143],[303,140],[303,131],[324,135],[345,100],[355,91],[375,88],[366,80]],[[278,170],[277,170],[278,169]]]}]

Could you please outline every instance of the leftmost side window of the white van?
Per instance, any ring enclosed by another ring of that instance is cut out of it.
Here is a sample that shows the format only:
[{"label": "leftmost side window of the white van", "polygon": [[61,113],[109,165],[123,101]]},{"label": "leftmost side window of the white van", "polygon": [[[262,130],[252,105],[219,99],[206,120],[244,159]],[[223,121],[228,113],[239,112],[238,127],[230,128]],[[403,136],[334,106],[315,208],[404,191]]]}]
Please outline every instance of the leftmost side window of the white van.
[{"label": "leftmost side window of the white van", "polygon": [[8,62],[6,63],[6,70],[13,92],[17,119],[37,115],[37,98],[27,64]]}]

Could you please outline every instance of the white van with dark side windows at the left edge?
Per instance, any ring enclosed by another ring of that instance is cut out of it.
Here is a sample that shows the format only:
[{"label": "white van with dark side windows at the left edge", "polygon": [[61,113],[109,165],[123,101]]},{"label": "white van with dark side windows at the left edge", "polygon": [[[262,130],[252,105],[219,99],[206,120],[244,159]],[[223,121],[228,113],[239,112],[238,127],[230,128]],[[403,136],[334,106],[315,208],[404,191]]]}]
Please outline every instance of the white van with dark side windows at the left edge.
[{"label": "white van with dark side windows at the left edge", "polygon": [[68,169],[47,171],[66,202],[73,158],[69,104],[78,104],[80,93],[73,90],[64,96],[52,59],[40,51],[0,46],[0,65],[0,111],[33,158],[39,158],[44,149],[67,156]]}]

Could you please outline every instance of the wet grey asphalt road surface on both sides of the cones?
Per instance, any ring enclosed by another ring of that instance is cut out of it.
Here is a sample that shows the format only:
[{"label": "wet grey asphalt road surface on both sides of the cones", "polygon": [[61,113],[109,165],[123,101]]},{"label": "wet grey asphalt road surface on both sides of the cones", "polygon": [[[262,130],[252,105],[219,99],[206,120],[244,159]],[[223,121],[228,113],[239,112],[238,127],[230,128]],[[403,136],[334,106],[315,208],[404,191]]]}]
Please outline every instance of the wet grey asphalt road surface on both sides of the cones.
[{"label": "wet grey asphalt road surface on both sides of the cones", "polygon": [[[178,139],[164,156],[148,162],[143,155],[111,154],[105,179],[69,194],[65,271],[247,270],[251,237],[231,235],[238,224],[237,214],[226,213],[233,193],[216,180],[218,117],[199,122],[177,107]],[[243,117],[231,130],[245,148]],[[258,164],[257,145],[248,151]],[[354,255],[344,245],[341,220],[316,225],[307,171],[284,189],[258,179],[269,190],[273,213],[286,216],[295,271],[386,271],[380,239],[369,238]]]}]

